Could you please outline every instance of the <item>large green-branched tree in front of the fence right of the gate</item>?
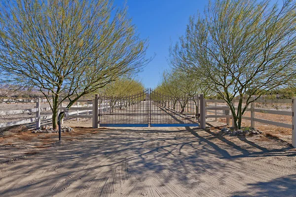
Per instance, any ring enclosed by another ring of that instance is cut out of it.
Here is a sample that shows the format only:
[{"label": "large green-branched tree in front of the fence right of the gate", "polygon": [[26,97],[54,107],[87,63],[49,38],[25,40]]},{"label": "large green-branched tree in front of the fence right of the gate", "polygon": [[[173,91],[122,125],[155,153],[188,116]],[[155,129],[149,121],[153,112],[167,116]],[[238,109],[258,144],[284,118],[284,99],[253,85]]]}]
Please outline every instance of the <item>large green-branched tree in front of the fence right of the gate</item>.
[{"label": "large green-branched tree in front of the fence right of the gate", "polygon": [[170,53],[178,60],[174,66],[200,76],[227,102],[240,129],[251,102],[294,82],[295,51],[294,0],[281,6],[270,0],[216,0],[204,15],[190,17],[185,36]]}]

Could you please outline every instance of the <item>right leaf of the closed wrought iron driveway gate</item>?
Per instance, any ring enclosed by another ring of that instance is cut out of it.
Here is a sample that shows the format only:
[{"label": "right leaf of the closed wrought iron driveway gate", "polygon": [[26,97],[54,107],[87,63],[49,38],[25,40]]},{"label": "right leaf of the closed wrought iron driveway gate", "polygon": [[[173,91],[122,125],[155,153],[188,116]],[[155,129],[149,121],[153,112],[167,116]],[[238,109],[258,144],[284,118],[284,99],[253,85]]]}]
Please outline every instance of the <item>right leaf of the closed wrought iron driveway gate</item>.
[{"label": "right leaf of the closed wrought iron driveway gate", "polygon": [[198,127],[198,96],[173,97],[150,89],[151,127]]}]

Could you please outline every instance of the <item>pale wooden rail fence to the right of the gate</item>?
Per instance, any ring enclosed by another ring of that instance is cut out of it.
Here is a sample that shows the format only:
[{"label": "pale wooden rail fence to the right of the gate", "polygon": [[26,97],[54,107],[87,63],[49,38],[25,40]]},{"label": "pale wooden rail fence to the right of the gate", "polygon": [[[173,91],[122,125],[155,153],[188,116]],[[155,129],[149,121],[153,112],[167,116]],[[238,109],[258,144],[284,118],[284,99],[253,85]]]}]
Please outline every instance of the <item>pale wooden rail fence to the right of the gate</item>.
[{"label": "pale wooden rail fence to the right of the gate", "polygon": [[[233,102],[238,102],[238,100],[233,100]],[[207,103],[214,103],[214,105],[208,105]],[[217,105],[217,103],[224,103],[223,105]],[[280,111],[280,110],[270,110],[270,109],[259,109],[255,107],[256,103],[290,103],[292,104],[292,111]],[[221,110],[223,112],[221,112]],[[252,102],[250,104],[250,107],[247,108],[247,111],[251,112],[251,117],[243,116],[242,119],[250,120],[251,121],[251,127],[255,127],[255,122],[259,123],[265,123],[269,125],[274,125],[278,127],[288,128],[292,129],[292,145],[296,147],[296,98],[293,99],[277,99],[277,100],[269,100],[269,99],[259,99],[256,100],[256,102]],[[201,109],[200,109],[200,116],[205,118],[215,118],[216,121],[218,118],[226,118],[226,123],[230,125],[230,119],[232,119],[232,126],[234,126],[233,123],[233,117],[230,112],[230,108],[226,105],[225,100],[221,99],[205,99],[204,103],[201,101]],[[207,115],[207,112],[211,112],[215,115]],[[276,121],[270,121],[270,120],[263,120],[256,118],[256,112],[259,113],[266,113],[266,114],[277,114],[277,115],[286,115],[286,116],[292,116],[292,124],[287,123],[280,123]],[[203,124],[203,125],[202,125]],[[205,123],[202,123],[201,121],[201,128],[205,127]]]}]

